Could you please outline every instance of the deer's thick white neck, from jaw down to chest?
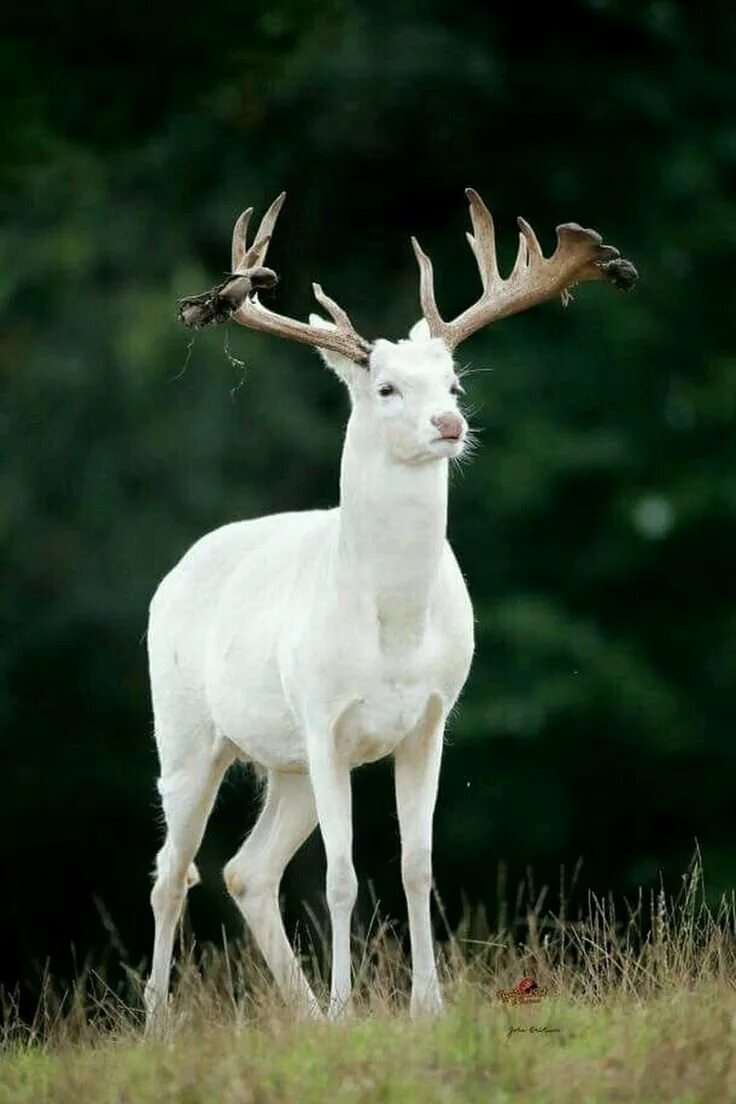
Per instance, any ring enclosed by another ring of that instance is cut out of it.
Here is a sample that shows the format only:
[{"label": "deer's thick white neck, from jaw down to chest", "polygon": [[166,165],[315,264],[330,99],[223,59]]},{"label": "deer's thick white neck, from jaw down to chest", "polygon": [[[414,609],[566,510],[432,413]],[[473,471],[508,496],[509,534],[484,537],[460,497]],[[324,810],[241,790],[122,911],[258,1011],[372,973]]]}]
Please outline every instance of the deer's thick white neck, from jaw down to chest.
[{"label": "deer's thick white neck, from jaw down to chest", "polygon": [[353,416],[340,474],[340,577],[382,646],[422,639],[447,530],[447,460],[401,464]]}]

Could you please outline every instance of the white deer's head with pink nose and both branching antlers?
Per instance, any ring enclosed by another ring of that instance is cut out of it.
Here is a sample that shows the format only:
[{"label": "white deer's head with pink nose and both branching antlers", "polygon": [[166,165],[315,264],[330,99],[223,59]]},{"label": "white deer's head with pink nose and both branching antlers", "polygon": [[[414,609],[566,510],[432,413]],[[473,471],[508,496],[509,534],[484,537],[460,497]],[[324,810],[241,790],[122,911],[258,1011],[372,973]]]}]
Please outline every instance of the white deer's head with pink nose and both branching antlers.
[{"label": "white deer's head with pink nose and both branching antlers", "polygon": [[467,423],[458,410],[462,388],[452,361],[460,342],[482,327],[544,299],[559,295],[566,304],[569,288],[577,283],[607,279],[628,290],[637,279],[629,261],[622,259],[612,246],[604,245],[594,230],[584,230],[577,223],[557,227],[557,247],[552,257],[545,258],[534,231],[523,219],[519,220],[516,261],[511,275],[503,279],[498,270],[491,215],[477,192],[468,189],[466,194],[473,227],[473,234],[467,236],[478,263],[482,293],[454,321],[446,322],[437,309],[431,262],[416,238],[412,242],[419,264],[424,318],[407,340],[366,341],[319,284],[312,285],[314,297],[330,321],[310,315],[308,323],[301,322],[264,307],[257,293],[277,282],[265,261],[284,192],[264,215],[250,246],[247,229],[253,209],[243,212],[233,231],[231,275],[204,296],[182,300],[180,318],[191,326],[230,317],[249,329],[310,344],[348,385],[354,421],[365,435],[366,446],[375,446],[381,439],[391,456],[403,463],[458,456],[467,434]]}]

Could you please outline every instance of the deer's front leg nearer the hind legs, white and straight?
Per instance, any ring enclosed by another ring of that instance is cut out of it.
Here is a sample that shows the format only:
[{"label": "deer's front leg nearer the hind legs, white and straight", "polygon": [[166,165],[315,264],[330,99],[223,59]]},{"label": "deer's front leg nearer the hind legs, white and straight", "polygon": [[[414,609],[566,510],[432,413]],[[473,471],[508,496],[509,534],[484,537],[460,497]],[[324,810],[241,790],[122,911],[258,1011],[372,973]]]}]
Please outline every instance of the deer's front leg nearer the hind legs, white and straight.
[{"label": "deer's front leg nearer the hind legs, white and straight", "polygon": [[353,867],[350,767],[335,754],[334,733],[309,742],[309,774],[327,854],[327,904],[332,927],[331,1018],[351,1011],[350,922],[358,896]]}]

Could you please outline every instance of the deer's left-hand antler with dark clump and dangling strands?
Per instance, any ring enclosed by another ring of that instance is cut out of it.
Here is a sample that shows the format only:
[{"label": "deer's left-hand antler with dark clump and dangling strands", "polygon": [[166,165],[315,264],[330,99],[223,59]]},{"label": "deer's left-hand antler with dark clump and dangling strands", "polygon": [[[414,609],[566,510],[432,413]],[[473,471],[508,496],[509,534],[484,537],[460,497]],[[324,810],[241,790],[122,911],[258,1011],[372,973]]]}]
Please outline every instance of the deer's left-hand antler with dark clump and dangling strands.
[{"label": "deer's left-hand antler with dark clump and dangling strands", "polygon": [[319,284],[312,284],[314,298],[329,314],[334,329],[310,326],[295,318],[277,315],[263,307],[256,298],[259,288],[274,287],[278,282],[276,273],[271,268],[265,268],[264,262],[285,199],[286,192],[281,192],[274,200],[249,247],[246,235],[253,208],[243,212],[233,229],[231,275],[212,291],[182,299],[179,316],[185,326],[202,326],[232,318],[252,330],[276,333],[320,349],[331,349],[364,367],[367,364],[371,343],[355,332],[346,312],[324,294]]}]

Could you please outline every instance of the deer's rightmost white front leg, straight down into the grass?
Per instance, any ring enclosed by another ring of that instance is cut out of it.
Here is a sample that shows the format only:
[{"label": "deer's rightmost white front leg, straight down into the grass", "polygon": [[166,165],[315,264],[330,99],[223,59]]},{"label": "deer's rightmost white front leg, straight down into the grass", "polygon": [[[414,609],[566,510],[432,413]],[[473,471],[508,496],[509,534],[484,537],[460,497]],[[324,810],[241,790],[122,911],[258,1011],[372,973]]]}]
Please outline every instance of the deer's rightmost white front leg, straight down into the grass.
[{"label": "deer's rightmost white front leg, straight down into the grass", "polygon": [[442,756],[445,715],[433,698],[424,723],[395,753],[402,879],[412,943],[412,1016],[441,1011],[429,916],[431,892],[431,822]]}]

